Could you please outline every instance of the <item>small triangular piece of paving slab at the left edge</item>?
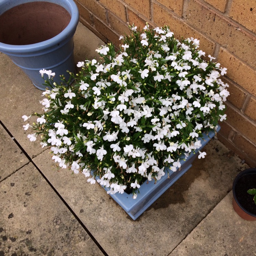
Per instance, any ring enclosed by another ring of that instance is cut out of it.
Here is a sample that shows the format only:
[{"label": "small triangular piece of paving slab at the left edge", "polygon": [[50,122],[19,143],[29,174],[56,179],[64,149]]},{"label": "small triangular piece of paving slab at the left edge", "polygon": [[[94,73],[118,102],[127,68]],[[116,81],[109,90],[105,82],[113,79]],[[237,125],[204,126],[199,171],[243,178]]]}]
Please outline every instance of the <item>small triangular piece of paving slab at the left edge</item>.
[{"label": "small triangular piece of paving slab at the left edge", "polygon": [[0,125],[0,182],[26,163],[28,158]]}]

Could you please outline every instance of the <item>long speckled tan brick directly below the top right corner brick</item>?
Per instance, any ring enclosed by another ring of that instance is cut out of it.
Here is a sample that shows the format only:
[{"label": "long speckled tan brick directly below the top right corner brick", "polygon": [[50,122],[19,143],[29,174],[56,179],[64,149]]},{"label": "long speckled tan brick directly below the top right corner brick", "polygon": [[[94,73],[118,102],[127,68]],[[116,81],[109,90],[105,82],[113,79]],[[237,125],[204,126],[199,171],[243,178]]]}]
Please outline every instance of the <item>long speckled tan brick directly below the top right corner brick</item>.
[{"label": "long speckled tan brick directly below the top right corner brick", "polygon": [[256,67],[256,37],[197,0],[187,2],[183,17],[190,25]]}]

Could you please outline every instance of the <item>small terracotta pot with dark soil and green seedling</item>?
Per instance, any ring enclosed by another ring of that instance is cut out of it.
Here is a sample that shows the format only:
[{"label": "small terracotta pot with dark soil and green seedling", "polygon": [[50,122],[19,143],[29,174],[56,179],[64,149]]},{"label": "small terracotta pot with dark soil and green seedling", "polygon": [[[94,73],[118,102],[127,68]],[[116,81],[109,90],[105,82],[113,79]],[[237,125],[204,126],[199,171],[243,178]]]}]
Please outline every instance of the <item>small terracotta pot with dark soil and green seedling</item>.
[{"label": "small terracotta pot with dark soil and green seedling", "polygon": [[[237,184],[239,184],[239,182],[241,182],[241,178],[244,177],[244,175],[248,175],[248,176],[256,176],[256,168],[249,168],[249,169],[246,169],[242,172],[240,172],[236,178],[234,179],[234,182],[233,182],[233,208],[234,210],[236,211],[236,213],[243,219],[247,220],[247,221],[256,221],[256,214],[254,213],[251,213],[250,211],[246,210],[242,205],[241,203],[239,202],[239,194],[238,192],[236,191],[236,186]],[[248,187],[248,189],[250,188],[255,188],[256,187],[256,180],[254,182],[252,182],[252,184],[254,185],[251,185],[251,186],[254,186],[254,187]],[[244,190],[244,193],[247,193],[247,189]],[[253,202],[252,202],[253,203]]]}]

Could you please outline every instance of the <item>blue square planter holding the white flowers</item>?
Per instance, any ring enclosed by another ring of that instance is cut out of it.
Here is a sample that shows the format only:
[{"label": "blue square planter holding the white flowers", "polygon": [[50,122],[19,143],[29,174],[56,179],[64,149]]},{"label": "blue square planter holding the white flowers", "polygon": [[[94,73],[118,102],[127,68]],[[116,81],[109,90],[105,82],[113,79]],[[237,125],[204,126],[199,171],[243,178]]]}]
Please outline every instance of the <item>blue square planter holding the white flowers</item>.
[{"label": "blue square planter holding the white flowers", "polygon": [[[218,126],[217,132],[220,130]],[[202,148],[215,136],[215,132],[211,131],[209,134],[204,134],[201,141]],[[198,150],[196,154],[190,154],[186,160],[180,160],[181,168],[180,170],[173,172],[168,168],[169,177],[167,174],[167,168],[165,170],[165,175],[161,177],[156,183],[154,180],[145,181],[140,186],[140,193],[136,199],[132,198],[132,194],[113,194],[110,196],[127,212],[127,214],[136,220],[151,204],[153,204],[158,197],[160,197],[175,181],[177,181],[191,166],[192,162],[198,156]],[[102,186],[103,187],[103,186]],[[106,191],[110,191],[110,188],[103,187]]]}]

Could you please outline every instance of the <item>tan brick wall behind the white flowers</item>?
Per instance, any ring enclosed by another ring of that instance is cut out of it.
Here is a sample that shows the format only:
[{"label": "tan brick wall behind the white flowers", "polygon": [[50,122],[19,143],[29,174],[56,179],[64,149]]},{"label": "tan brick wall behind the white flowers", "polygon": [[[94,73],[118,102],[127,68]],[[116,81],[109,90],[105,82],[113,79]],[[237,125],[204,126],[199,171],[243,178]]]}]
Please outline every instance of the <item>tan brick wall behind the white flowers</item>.
[{"label": "tan brick wall behind the white flowers", "polygon": [[218,134],[248,165],[256,167],[255,0],[75,0],[80,21],[104,42],[119,45],[128,24],[168,25],[175,37],[194,37],[200,48],[228,68],[227,120]]}]

